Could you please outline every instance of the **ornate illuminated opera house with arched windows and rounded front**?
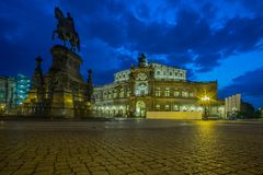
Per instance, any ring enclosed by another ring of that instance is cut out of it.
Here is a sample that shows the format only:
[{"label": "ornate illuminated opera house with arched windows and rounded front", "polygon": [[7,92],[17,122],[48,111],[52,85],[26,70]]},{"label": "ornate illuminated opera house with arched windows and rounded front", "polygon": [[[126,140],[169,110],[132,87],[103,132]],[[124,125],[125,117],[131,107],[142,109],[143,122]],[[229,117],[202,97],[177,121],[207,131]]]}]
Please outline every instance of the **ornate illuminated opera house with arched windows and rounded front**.
[{"label": "ornate illuminated opera house with arched windows and rounded front", "polygon": [[99,116],[146,117],[147,112],[203,112],[202,96],[209,96],[209,116],[221,117],[224,102],[217,100],[217,81],[192,82],[186,70],[148,65],[141,54],[138,67],[114,74],[114,82],[94,88]]}]

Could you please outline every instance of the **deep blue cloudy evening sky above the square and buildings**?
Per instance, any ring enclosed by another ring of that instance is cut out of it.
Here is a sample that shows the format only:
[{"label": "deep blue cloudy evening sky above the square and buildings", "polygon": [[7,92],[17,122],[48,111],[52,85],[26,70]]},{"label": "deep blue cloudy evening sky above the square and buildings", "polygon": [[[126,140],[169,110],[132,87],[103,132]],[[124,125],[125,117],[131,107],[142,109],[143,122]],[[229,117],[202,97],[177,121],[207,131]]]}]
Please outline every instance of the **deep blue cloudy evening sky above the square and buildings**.
[{"label": "deep blue cloudy evening sky above the square and buildings", "polygon": [[187,69],[193,81],[217,80],[219,96],[241,93],[263,105],[262,0],[0,0],[0,75],[32,77],[36,56],[52,63],[58,5],[75,19],[81,73],[96,85],[129,69],[139,52]]}]

